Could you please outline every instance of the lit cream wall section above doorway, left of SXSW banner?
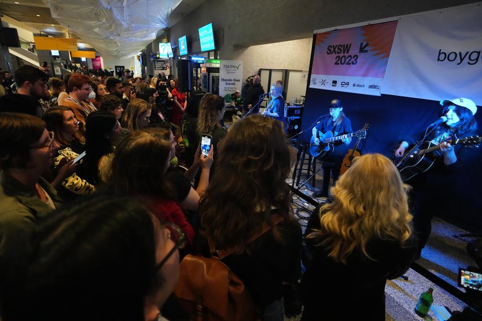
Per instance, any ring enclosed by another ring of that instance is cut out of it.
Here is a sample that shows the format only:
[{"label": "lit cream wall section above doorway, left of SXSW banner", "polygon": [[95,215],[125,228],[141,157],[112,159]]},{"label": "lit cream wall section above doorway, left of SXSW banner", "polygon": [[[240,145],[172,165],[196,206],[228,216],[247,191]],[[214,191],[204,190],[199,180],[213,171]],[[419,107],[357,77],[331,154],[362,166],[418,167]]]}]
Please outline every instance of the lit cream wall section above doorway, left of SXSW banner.
[{"label": "lit cream wall section above doorway, left of SXSW banner", "polygon": [[260,68],[308,70],[312,38],[284,41],[251,47],[237,47],[233,60],[243,61],[243,79],[257,74]]}]

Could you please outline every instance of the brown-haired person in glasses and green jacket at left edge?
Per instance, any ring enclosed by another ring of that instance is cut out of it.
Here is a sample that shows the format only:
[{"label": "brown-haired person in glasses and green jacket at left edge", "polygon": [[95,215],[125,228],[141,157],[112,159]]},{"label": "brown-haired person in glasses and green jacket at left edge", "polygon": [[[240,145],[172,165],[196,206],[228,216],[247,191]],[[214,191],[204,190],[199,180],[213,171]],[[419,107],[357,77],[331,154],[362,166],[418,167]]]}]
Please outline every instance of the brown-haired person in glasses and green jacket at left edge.
[{"label": "brown-haired person in glasses and green jacket at left edge", "polygon": [[16,267],[37,220],[62,204],[41,177],[59,148],[45,127],[32,115],[0,113],[0,275]]}]

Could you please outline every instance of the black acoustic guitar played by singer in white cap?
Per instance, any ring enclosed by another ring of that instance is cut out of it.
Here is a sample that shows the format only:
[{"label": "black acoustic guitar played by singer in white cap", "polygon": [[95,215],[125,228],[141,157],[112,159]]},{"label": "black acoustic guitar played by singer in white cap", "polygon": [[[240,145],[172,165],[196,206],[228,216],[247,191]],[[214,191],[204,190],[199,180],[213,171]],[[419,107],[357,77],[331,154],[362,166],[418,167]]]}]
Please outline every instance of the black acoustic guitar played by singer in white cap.
[{"label": "black acoustic guitar played by singer in white cap", "polygon": [[[480,136],[446,140],[446,142],[449,142],[451,145],[476,145],[481,141],[482,137]],[[410,151],[407,152],[407,154],[396,164],[400,176],[402,177],[402,181],[408,181],[415,175],[428,171],[435,162],[436,157],[441,155],[440,153],[436,153],[438,149],[440,149],[440,145],[434,144],[428,140],[413,146],[412,149],[410,149]]]}]

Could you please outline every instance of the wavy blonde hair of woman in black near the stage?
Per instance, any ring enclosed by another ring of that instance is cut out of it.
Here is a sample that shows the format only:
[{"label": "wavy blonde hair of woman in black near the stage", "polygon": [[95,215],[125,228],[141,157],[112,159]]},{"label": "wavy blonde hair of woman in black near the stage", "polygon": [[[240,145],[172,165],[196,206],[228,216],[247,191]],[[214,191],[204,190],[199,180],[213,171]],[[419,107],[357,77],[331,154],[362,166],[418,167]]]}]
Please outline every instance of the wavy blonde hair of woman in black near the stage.
[{"label": "wavy blonde hair of woman in black near the stage", "polygon": [[[407,191],[390,159],[381,154],[356,157],[351,168],[331,188],[333,202],[319,213],[321,229],[308,235],[336,262],[356,248],[371,258],[367,243],[373,238],[403,244],[411,235]],[[316,214],[314,214],[316,215]]]}]

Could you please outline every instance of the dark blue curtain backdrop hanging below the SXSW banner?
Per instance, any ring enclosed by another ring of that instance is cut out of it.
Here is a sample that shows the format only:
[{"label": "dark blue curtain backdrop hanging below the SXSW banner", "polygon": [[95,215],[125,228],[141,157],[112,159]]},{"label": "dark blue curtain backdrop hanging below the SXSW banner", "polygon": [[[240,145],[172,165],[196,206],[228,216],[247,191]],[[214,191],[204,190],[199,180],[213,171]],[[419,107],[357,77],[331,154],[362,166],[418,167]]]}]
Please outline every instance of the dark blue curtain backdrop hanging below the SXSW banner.
[{"label": "dark blue curtain backdrop hanging below the SXSW banner", "polygon": [[[308,79],[311,77],[311,67],[313,64],[313,48],[311,52],[310,71]],[[331,85],[331,84],[327,84]],[[306,88],[305,107],[303,111],[302,129],[308,129],[303,135],[303,141],[309,141],[311,137],[310,125],[321,115],[329,112],[329,103],[333,99],[339,99],[343,105],[343,112],[351,120],[353,131],[361,129],[366,122],[370,122],[369,134],[362,153],[377,152],[390,157],[394,147],[398,144],[399,138],[406,134],[417,134],[425,130],[429,124],[441,116],[442,106],[438,101],[408,98],[401,96],[382,95],[370,96],[362,94],[344,93],[339,91]],[[442,99],[453,99],[457,97],[440,97]],[[464,97],[470,98],[470,97]],[[475,114],[479,132],[482,128],[482,108],[478,108]],[[352,139],[350,148],[353,147],[355,138]],[[445,218],[469,231],[482,232],[482,219],[479,212],[482,210],[482,197],[478,191],[482,187],[482,171],[479,169],[480,159],[482,159],[482,144],[474,148],[473,181],[474,186],[467,186],[467,198],[461,208],[468,209],[471,213],[466,213],[460,220]],[[444,196],[441,196],[444,197]],[[447,196],[449,197],[449,196]],[[478,214],[477,214],[478,213]],[[457,214],[457,213],[454,213]],[[458,214],[457,214],[458,215]]]}]

